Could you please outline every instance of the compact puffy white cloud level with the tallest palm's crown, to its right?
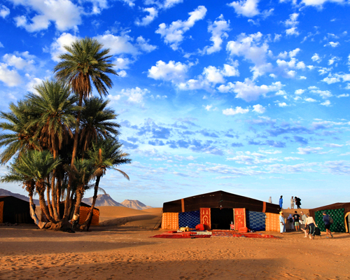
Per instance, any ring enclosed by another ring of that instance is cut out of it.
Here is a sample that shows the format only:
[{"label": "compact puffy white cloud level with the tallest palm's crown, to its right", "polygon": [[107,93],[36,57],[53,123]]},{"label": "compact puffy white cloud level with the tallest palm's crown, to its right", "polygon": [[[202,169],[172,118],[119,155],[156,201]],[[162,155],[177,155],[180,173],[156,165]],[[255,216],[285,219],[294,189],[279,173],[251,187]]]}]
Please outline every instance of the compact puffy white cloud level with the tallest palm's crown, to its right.
[{"label": "compact puffy white cloud level with the tallest palm's crown, to its right", "polygon": [[155,66],[148,69],[148,77],[155,80],[167,80],[173,83],[179,82],[186,77],[186,72],[192,64],[182,64],[181,62],[169,61],[169,63],[159,60]]}]

